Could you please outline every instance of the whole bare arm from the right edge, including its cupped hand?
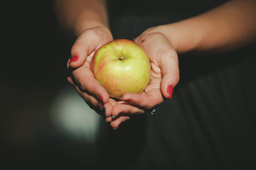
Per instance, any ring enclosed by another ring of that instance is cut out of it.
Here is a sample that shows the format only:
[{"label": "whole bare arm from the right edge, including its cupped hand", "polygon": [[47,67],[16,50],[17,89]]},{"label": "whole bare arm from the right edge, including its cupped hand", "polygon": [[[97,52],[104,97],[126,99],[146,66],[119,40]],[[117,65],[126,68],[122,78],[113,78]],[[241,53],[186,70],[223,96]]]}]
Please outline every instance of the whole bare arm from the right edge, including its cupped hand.
[{"label": "whole bare arm from the right edge, including its cupped hand", "polygon": [[[233,0],[199,16],[144,31],[136,42],[150,57],[156,84],[149,84],[144,95],[124,94],[123,100],[138,108],[150,108],[163,101],[162,96],[171,98],[179,80],[176,52],[224,51],[246,45],[256,39],[255,16],[255,0]],[[122,104],[112,108],[112,115],[120,113],[128,113]],[[123,121],[119,118],[110,125],[117,128]]]}]

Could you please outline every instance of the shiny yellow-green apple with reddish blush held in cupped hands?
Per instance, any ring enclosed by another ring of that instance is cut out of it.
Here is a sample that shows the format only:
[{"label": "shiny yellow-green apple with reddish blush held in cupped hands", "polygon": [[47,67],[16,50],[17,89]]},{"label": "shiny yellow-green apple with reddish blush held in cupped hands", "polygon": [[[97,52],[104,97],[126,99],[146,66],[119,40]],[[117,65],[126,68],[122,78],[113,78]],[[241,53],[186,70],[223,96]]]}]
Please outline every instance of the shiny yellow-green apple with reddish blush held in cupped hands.
[{"label": "shiny yellow-green apple with reddish blush held in cupped hands", "polygon": [[141,94],[151,75],[148,55],[127,39],[112,40],[97,49],[90,69],[112,98],[122,98],[128,92]]}]

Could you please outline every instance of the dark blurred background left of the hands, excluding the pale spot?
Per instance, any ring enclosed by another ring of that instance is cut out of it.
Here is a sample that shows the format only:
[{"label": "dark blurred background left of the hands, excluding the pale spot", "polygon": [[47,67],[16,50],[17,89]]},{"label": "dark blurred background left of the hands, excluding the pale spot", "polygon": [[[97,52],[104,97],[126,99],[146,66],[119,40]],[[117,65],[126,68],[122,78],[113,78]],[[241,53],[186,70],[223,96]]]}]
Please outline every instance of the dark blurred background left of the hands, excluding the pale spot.
[{"label": "dark blurred background left of the hands, excluding the pale spot", "polygon": [[53,1],[1,2],[0,34],[1,165],[93,169],[87,143],[50,121],[53,98],[68,86],[65,64],[73,44],[58,25]]}]

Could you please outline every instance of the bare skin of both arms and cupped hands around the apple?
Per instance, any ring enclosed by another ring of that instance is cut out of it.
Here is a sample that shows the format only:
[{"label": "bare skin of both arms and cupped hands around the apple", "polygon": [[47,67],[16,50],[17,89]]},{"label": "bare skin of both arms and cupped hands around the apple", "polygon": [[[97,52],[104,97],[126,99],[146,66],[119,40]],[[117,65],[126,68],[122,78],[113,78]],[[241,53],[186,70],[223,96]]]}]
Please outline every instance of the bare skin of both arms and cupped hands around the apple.
[{"label": "bare skin of both arms and cupped hands around the apple", "polygon": [[[106,121],[116,129],[132,115],[141,114],[169,98],[167,87],[179,80],[178,55],[190,51],[223,52],[242,47],[256,39],[256,1],[233,0],[199,16],[145,30],[136,38],[151,60],[151,83],[142,94],[124,94],[113,101],[90,71],[95,50],[112,40],[105,2],[100,0],[56,0],[60,21],[78,39],[69,64],[68,81],[87,103],[105,108]],[[87,81],[85,81],[87,80]],[[89,81],[88,81],[89,80]],[[102,100],[100,100],[102,98]],[[117,116],[112,118],[110,115]]]}]

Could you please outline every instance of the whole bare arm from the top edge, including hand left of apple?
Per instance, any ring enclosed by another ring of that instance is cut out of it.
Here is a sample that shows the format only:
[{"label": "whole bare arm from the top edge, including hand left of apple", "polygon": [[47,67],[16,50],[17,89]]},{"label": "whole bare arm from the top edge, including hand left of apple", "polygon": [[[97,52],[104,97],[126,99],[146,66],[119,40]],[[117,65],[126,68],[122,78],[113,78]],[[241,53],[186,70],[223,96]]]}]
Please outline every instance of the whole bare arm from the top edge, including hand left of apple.
[{"label": "whole bare arm from the top edge, including hand left of apple", "polygon": [[109,116],[110,97],[90,70],[97,48],[113,39],[105,0],[55,0],[55,10],[63,28],[77,37],[67,63],[68,81],[90,106],[105,108]]}]

